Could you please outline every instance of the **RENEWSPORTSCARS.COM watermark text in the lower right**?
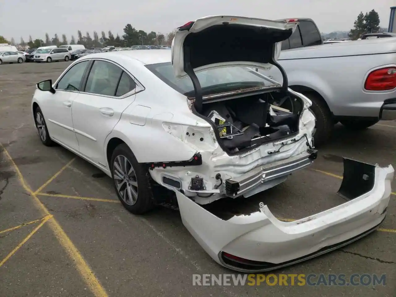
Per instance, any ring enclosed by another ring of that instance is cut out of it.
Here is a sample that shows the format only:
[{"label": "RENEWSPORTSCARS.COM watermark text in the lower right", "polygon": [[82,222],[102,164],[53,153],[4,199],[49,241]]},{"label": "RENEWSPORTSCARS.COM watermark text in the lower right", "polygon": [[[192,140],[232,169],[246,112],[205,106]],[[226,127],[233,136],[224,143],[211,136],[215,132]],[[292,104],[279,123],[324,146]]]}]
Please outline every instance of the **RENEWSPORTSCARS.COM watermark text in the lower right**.
[{"label": "RENEWSPORTSCARS.COM watermark text in the lower right", "polygon": [[193,274],[193,286],[385,286],[386,274]]}]

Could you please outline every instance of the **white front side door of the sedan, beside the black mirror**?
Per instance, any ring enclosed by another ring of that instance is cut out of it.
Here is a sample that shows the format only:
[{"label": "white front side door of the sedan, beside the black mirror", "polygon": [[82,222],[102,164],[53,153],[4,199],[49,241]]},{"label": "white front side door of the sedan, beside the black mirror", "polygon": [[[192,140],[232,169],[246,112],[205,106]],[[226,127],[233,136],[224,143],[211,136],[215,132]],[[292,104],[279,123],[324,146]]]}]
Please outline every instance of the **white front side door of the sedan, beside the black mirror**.
[{"label": "white front side door of the sedan, beside the black mirror", "polygon": [[70,67],[55,83],[55,93],[41,107],[49,135],[61,144],[78,151],[78,141],[73,128],[72,105],[82,86],[82,78],[89,61]]}]

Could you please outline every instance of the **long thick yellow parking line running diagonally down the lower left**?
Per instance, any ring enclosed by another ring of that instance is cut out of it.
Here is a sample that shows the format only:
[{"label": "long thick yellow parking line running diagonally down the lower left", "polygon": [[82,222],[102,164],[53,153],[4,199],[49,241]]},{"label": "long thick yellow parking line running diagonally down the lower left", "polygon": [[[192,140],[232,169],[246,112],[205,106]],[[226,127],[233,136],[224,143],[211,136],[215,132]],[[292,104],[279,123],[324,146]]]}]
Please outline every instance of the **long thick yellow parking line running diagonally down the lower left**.
[{"label": "long thick yellow parking line running diagonally down the lower left", "polygon": [[[40,199],[38,199],[37,194],[35,194],[27,185],[25,179],[23,178],[23,175],[21,171],[19,170],[18,166],[15,164],[14,160],[11,158],[10,154],[4,148],[4,146],[0,143],[0,148],[4,151],[4,154],[6,154],[8,160],[11,162],[13,168],[15,169],[19,182],[23,186],[23,188],[30,194],[30,196],[33,197],[34,203],[36,204],[36,207],[41,209],[41,211],[45,215],[49,215],[48,209],[42,204]],[[62,169],[61,169],[62,170]],[[59,172],[60,173],[60,172]],[[56,176],[59,175],[59,173],[55,174]],[[55,176],[54,175],[54,176]],[[44,185],[48,185],[48,182],[44,183]],[[40,187],[41,188],[41,187]],[[48,221],[48,225],[51,228],[51,231],[53,234],[55,234],[55,237],[61,244],[61,246],[66,250],[67,254],[71,259],[74,261],[74,265],[76,266],[78,272],[82,276],[84,282],[88,285],[89,289],[93,293],[95,297],[108,297],[106,290],[102,287],[101,283],[89,267],[88,263],[84,260],[76,246],[72,243],[70,240],[69,236],[65,233],[65,231],[62,229],[61,225],[56,221],[54,217],[52,217]]]}]

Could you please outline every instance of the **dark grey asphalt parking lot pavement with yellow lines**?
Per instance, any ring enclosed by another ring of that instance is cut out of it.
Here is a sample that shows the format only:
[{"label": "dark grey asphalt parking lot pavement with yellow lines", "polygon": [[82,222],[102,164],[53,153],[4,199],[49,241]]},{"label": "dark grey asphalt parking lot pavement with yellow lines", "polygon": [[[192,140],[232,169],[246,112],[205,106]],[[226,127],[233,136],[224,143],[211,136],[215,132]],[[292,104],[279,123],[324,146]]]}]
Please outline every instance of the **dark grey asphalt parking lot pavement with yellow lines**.
[{"label": "dark grey asphalt parking lot pavement with yellow lines", "polygon": [[[30,107],[35,84],[55,80],[69,63],[0,65],[0,296],[395,296],[395,194],[379,230],[272,272],[386,274],[385,286],[281,286],[271,285],[273,276],[260,286],[194,286],[193,274],[234,272],[206,254],[178,211],[132,215],[99,169],[60,146],[41,144]],[[262,201],[286,220],[339,205],[345,202],[335,194],[342,157],[396,168],[395,148],[395,121],[360,132],[337,125],[311,168],[249,202]]]}]

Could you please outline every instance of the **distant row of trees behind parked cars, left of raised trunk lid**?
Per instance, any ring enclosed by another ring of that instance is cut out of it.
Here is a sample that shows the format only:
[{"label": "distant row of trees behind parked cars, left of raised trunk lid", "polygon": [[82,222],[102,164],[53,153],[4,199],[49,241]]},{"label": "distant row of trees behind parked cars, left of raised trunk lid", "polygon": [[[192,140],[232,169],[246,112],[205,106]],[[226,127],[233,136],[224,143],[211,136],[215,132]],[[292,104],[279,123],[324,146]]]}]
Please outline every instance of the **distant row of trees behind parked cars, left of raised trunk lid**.
[{"label": "distant row of trees behind parked cars, left of raised trunk lid", "polygon": [[93,31],[93,35],[86,32],[85,35],[82,34],[81,30],[77,31],[77,38],[74,35],[71,36],[70,40],[67,38],[66,34],[62,34],[60,37],[55,34],[52,38],[48,33],[45,34],[44,40],[41,38],[33,39],[29,35],[29,41],[25,42],[21,37],[19,43],[16,43],[14,38],[10,41],[6,40],[0,35],[0,43],[8,43],[11,45],[18,45],[21,47],[29,46],[29,48],[38,48],[40,46],[61,46],[66,44],[82,44],[86,48],[101,48],[104,46],[115,46],[115,47],[131,47],[134,45],[170,45],[173,37],[175,36],[175,30],[169,32],[168,34],[157,33],[151,31],[149,33],[144,30],[137,30],[132,27],[131,24],[127,24],[124,28],[124,34],[119,36],[114,34],[109,30],[107,34],[105,31],[101,32],[101,35],[96,31]]}]

